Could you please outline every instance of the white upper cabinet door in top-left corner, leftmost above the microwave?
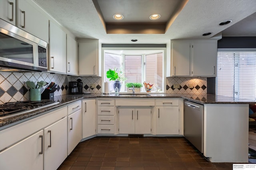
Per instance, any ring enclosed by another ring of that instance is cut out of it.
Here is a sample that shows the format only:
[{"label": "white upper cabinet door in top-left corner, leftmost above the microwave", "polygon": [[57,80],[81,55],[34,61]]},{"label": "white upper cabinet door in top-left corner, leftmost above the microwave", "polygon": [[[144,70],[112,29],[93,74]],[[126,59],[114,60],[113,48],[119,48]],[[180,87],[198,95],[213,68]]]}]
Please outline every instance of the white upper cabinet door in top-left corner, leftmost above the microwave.
[{"label": "white upper cabinet door in top-left corner, leftmost above the microwave", "polygon": [[0,18],[15,25],[15,16],[16,0],[0,0]]}]

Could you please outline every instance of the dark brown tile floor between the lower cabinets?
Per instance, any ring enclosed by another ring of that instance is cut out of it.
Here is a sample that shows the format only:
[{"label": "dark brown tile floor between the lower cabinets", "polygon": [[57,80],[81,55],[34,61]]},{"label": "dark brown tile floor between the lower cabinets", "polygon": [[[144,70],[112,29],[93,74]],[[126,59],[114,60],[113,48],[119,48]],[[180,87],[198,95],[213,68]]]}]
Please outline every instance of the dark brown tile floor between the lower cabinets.
[{"label": "dark brown tile floor between the lower cabinets", "polygon": [[208,162],[183,137],[95,137],[81,142],[58,170],[232,170]]}]

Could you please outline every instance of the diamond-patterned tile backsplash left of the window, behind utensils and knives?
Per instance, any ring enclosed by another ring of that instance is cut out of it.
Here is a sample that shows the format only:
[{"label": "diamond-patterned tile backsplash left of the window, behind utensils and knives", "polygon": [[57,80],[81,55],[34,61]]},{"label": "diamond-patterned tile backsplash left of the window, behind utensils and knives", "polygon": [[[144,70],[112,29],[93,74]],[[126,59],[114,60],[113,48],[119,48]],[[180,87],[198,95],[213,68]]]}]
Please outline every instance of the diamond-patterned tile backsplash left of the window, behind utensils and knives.
[{"label": "diamond-patterned tile backsplash left of the window, behind utensils and knives", "polygon": [[[76,81],[78,76],[67,76],[62,74],[50,74],[39,72],[4,72],[0,71],[0,104],[6,102],[26,101],[30,99],[30,91],[26,86],[26,81],[36,84],[41,80],[45,82],[55,82],[58,84],[54,96],[69,93],[70,81]],[[88,91],[90,84],[96,84],[96,88],[91,89],[92,93],[101,93],[101,77],[81,77],[84,89]],[[46,88],[41,88],[41,92]]]}]

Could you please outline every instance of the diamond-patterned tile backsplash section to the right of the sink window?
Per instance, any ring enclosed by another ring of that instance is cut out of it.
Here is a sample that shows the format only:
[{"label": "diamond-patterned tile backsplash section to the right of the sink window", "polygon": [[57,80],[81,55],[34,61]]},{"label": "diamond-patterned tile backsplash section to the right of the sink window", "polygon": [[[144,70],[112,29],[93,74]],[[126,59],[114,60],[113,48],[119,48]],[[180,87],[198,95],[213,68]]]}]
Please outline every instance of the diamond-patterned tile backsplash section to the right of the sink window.
[{"label": "diamond-patterned tile backsplash section to the right of the sink window", "polygon": [[[174,88],[174,84],[179,84],[180,88]],[[190,88],[190,85],[193,88]],[[169,94],[206,94],[207,78],[197,77],[167,77],[166,93]]]}]

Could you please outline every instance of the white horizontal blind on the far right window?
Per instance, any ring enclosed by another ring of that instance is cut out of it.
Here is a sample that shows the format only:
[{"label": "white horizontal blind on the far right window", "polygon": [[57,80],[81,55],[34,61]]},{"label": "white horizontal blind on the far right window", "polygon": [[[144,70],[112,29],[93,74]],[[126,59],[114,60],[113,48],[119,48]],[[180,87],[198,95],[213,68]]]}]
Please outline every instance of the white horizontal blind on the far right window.
[{"label": "white horizontal blind on the far right window", "polygon": [[256,50],[218,49],[216,94],[256,99]]}]

